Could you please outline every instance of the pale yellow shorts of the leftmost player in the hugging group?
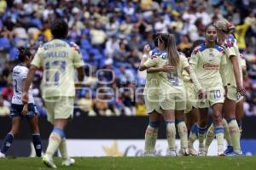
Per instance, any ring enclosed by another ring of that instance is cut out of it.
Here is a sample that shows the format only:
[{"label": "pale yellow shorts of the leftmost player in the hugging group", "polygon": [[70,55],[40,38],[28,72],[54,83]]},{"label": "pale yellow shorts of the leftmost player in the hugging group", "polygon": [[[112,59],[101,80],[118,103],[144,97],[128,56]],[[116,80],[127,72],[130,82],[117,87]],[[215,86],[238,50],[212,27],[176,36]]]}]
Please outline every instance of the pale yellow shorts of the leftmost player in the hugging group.
[{"label": "pale yellow shorts of the leftmost player in the hugging group", "polygon": [[160,99],[158,94],[144,95],[144,101],[146,105],[147,114],[151,113],[152,111],[157,111],[158,113],[162,114],[162,111],[160,110]]}]

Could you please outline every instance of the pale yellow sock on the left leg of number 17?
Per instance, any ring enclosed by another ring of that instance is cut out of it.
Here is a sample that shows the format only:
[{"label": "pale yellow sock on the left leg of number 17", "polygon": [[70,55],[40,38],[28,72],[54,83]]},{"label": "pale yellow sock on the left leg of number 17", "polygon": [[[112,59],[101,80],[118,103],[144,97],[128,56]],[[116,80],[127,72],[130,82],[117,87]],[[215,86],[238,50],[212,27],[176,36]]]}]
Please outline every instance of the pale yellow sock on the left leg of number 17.
[{"label": "pale yellow sock on the left leg of number 17", "polygon": [[61,136],[58,133],[52,132],[49,135],[49,144],[47,146],[46,155],[52,157],[61,143]]}]

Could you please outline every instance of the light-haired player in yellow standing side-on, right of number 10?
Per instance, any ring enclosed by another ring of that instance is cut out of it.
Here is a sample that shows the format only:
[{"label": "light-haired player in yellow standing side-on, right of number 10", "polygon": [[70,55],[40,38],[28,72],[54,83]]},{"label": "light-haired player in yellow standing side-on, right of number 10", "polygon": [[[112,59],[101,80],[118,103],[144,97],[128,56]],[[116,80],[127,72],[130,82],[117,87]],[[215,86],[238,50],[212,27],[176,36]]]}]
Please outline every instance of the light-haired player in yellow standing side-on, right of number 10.
[{"label": "light-haired player in yellow standing side-on, right of number 10", "polygon": [[227,64],[225,65],[224,87],[226,98],[224,100],[224,117],[229,123],[230,136],[233,145],[231,155],[241,155],[240,130],[236,122],[236,101],[245,95],[245,88],[242,84],[241,57],[236,38],[231,34],[234,26],[228,20],[217,20],[214,25],[217,28],[218,44],[225,49]]}]

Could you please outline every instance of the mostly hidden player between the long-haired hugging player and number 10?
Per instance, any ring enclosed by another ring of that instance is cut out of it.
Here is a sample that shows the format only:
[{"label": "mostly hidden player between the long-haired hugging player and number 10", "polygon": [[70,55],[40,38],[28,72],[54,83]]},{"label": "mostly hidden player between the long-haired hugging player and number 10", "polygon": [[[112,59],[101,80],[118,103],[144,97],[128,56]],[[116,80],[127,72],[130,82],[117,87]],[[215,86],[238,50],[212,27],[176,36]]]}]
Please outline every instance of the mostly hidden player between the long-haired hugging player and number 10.
[{"label": "mostly hidden player between the long-haired hugging player and number 10", "polygon": [[[190,59],[190,56],[192,54],[192,51],[194,50],[195,47],[201,45],[205,41],[203,40],[196,40],[193,42],[193,45],[191,48],[189,48],[187,51],[185,51],[185,55]],[[183,70],[183,82],[184,82],[184,87],[187,93],[187,105],[186,105],[186,110],[184,111],[185,113],[185,122],[188,128],[188,133],[189,133],[189,154],[192,156],[197,155],[197,151],[194,149],[194,142],[197,139],[198,135],[198,127],[197,127],[197,122],[199,121],[199,111],[196,107],[196,102],[195,102],[195,85],[192,82],[191,78],[189,77],[189,74],[187,71]]]}]

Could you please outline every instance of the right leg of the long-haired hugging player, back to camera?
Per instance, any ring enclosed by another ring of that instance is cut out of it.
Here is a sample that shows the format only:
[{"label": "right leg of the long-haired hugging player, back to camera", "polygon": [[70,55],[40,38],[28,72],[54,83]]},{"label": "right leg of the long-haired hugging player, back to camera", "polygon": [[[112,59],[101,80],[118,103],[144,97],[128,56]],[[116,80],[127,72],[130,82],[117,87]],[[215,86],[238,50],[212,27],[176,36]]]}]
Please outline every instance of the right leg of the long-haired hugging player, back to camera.
[{"label": "right leg of the long-haired hugging player, back to camera", "polygon": [[175,111],[175,122],[177,125],[177,132],[181,142],[181,154],[189,156],[188,150],[188,129],[184,122],[184,111]]}]

